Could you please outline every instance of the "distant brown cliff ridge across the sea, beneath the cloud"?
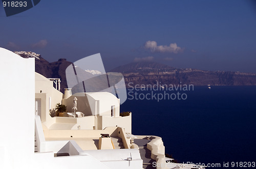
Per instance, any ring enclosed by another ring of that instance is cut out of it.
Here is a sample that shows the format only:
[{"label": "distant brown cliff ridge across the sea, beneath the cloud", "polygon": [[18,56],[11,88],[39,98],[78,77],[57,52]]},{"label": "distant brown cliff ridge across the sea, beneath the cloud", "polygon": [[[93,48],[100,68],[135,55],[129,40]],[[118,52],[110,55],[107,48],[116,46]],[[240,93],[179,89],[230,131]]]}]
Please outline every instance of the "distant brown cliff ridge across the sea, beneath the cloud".
[{"label": "distant brown cliff ridge across the sea, beneath the cloud", "polygon": [[[162,85],[178,85],[180,83],[187,85],[192,84],[195,86],[256,85],[256,74],[254,73],[176,69],[156,63],[147,65],[154,65],[154,67],[150,68],[146,66],[146,64],[132,63],[120,66],[112,71],[117,71],[123,74],[126,87],[129,82],[133,83],[130,83],[130,86],[135,86],[155,85],[157,81],[161,82]],[[131,66],[131,69],[127,69],[127,66]]]}]

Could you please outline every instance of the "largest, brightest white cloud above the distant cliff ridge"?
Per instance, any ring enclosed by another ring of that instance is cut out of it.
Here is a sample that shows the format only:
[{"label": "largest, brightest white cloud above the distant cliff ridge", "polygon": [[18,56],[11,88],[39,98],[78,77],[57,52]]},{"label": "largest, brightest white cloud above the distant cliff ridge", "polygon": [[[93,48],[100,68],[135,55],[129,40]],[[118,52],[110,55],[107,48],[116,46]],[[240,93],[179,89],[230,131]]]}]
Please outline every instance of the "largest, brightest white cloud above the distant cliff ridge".
[{"label": "largest, brightest white cloud above the distant cliff ridge", "polygon": [[184,48],[177,46],[176,43],[171,43],[169,46],[167,45],[160,45],[157,46],[156,41],[146,41],[144,47],[146,49],[150,49],[152,52],[169,52],[169,53],[178,53],[182,52]]}]

